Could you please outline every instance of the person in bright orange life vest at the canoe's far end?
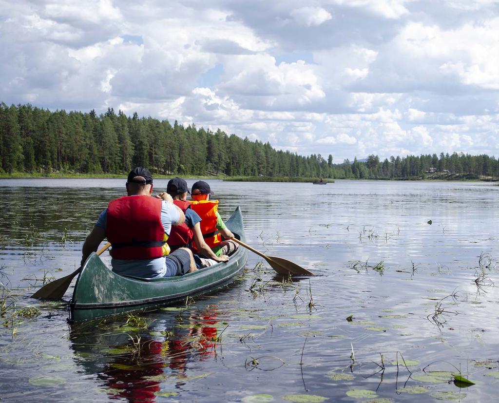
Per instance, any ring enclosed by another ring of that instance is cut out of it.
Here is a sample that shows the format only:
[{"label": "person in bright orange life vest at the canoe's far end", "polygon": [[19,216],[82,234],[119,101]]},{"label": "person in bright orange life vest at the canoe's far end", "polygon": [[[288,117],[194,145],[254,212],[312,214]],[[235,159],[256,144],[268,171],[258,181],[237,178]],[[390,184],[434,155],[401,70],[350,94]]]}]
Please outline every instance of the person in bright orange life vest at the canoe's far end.
[{"label": "person in bright orange life vest at the canoe's far end", "polygon": [[218,212],[218,200],[210,200],[211,194],[210,185],[204,181],[196,182],[191,188],[191,197],[194,199],[191,208],[201,216],[203,237],[214,253],[217,256],[231,255],[239,244],[230,239],[234,238],[234,234],[227,228]]}]

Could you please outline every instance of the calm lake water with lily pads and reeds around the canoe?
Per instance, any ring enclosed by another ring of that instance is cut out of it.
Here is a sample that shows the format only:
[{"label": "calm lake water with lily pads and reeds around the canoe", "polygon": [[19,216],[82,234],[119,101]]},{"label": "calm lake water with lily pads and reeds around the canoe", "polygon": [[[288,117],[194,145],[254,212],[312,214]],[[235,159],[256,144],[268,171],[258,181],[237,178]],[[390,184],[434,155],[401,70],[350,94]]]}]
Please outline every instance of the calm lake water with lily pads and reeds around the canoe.
[{"label": "calm lake water with lily pads and reeds around the canoe", "polygon": [[[64,303],[29,295],[78,267],[124,183],[0,180],[2,402],[495,399],[499,186],[212,181],[225,218],[241,206],[248,243],[318,276],[283,283],[250,254],[188,308],[70,325]],[[449,382],[459,370],[476,385]]]}]

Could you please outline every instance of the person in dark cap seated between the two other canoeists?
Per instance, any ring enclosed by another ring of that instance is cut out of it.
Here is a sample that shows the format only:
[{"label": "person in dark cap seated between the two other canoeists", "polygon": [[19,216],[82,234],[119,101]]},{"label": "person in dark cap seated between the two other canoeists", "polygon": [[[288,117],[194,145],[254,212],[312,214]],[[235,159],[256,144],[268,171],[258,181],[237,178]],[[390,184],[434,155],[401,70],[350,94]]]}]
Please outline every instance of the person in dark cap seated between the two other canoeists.
[{"label": "person in dark cap seated between the two other canoeists", "polygon": [[[182,178],[174,178],[168,181],[167,193],[172,197],[173,203],[185,214],[186,220],[182,225],[172,227],[172,232],[168,238],[168,245],[172,250],[186,246],[195,253],[194,259],[200,267],[212,266],[218,262],[226,262],[229,257],[226,255],[217,256],[210,246],[205,242],[201,232],[201,217],[191,208],[191,203],[187,201],[187,182]],[[161,195],[161,194],[160,194]],[[194,247],[193,245],[196,245]],[[198,257],[197,255],[204,257]]]}]

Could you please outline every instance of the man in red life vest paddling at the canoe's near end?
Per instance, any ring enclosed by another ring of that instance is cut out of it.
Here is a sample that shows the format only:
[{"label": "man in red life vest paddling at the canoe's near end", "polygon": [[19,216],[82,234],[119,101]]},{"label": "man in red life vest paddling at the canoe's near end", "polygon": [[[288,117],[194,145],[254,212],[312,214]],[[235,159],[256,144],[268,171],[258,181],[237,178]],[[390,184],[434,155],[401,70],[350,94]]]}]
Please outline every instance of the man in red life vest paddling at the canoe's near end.
[{"label": "man in red life vest paddling at the canoe's near end", "polygon": [[151,197],[151,173],[142,167],[133,169],[126,190],[127,196],[113,200],[100,213],[83,244],[81,263],[107,237],[112,246],[112,270],[118,274],[158,278],[197,270],[190,249],[169,254],[166,240],[172,225],[184,223],[185,215],[169,195]]}]

